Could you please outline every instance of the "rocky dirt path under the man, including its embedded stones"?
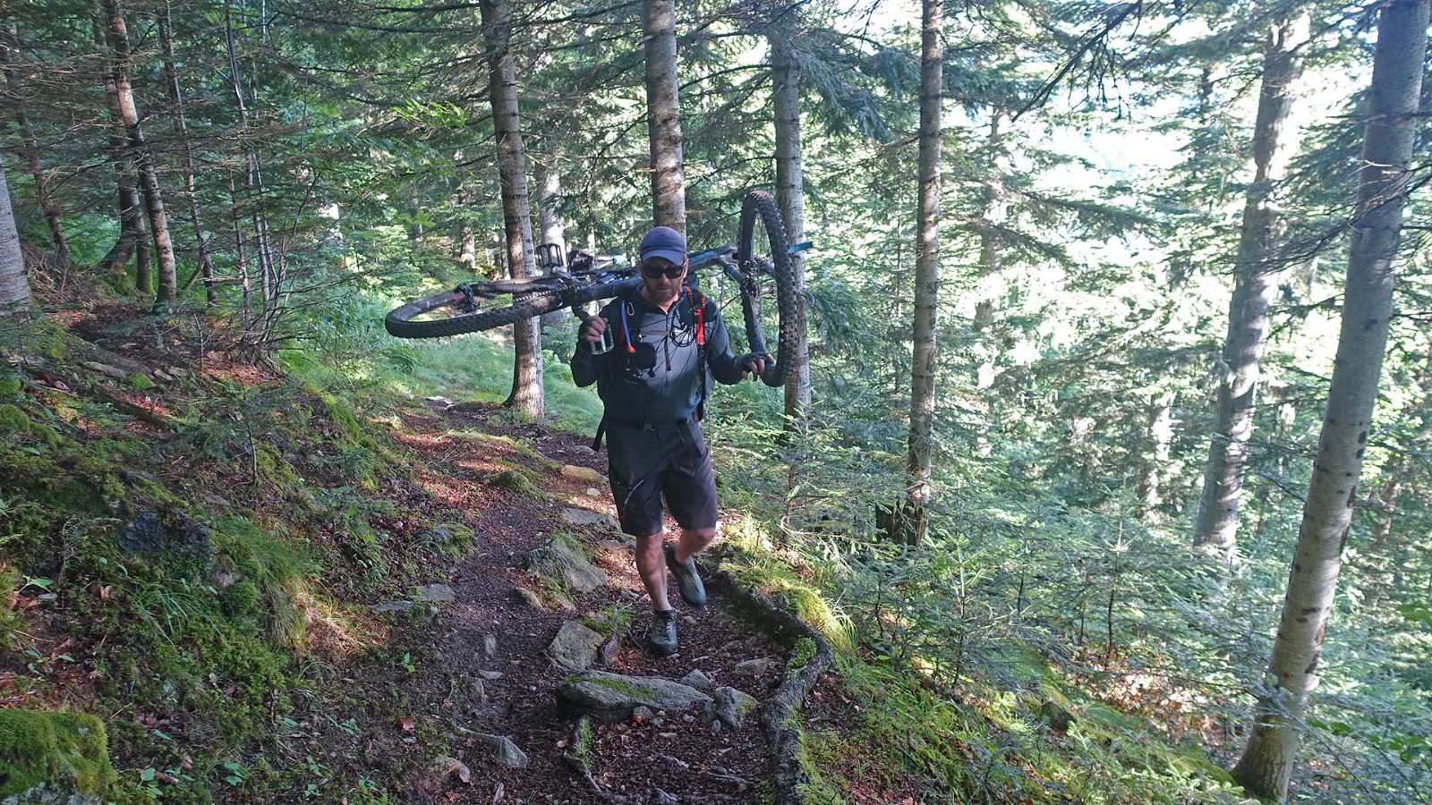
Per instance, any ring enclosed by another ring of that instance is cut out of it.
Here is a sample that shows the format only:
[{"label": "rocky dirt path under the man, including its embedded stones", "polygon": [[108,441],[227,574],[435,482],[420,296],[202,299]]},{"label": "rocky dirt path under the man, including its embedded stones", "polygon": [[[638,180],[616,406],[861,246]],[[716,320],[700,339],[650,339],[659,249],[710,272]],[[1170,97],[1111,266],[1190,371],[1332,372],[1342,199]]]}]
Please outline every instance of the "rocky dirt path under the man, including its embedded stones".
[{"label": "rocky dirt path under the man, including its embedded stones", "polygon": [[[442,705],[461,735],[448,741],[455,756],[434,761],[432,798],[758,802],[760,789],[769,796],[762,784],[769,746],[755,703],[775,692],[783,649],[725,597],[696,609],[677,596],[680,652],[649,655],[640,636],[650,603],[611,517],[604,455],[571,435],[504,425],[495,408],[461,411],[441,401],[432,408],[431,420],[407,423],[405,441],[448,470],[424,486],[447,487],[435,497],[453,506],[451,519],[477,530],[481,546],[457,567],[451,602],[437,603],[434,625],[404,637],[430,643],[441,657],[450,679]],[[574,675],[584,669],[607,675],[589,672],[579,683]],[[599,705],[583,692],[616,699]],[[583,723],[583,709],[601,712]]]}]

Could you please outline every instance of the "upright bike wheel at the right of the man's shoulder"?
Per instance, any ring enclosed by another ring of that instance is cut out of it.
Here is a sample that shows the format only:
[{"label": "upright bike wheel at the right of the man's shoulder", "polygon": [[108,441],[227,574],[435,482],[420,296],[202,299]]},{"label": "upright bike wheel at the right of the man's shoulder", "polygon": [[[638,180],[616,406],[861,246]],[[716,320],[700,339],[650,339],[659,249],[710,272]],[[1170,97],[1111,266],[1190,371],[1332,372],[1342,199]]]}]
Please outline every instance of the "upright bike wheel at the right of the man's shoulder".
[{"label": "upright bike wheel at the right of the man's shoulder", "polygon": [[[736,241],[736,264],[740,266],[740,308],[746,318],[746,338],[753,352],[770,352],[766,338],[775,329],[775,365],[760,380],[770,387],[783,385],[796,357],[796,291],[795,268],[780,209],[769,193],[752,191],[740,208],[740,231]],[[773,286],[773,288],[772,288]],[[775,291],[775,321],[769,315],[769,297]]]}]

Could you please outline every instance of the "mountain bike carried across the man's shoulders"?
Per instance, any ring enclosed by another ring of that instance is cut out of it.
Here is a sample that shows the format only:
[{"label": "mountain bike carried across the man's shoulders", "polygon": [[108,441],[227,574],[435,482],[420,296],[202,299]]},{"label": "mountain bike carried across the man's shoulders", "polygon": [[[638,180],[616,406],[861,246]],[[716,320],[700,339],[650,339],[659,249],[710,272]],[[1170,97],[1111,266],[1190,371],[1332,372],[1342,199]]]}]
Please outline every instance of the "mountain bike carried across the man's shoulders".
[{"label": "mountain bike carried across the man's shoulders", "polygon": [[[719,266],[739,289],[752,354],[770,355],[766,332],[775,327],[776,362],[760,375],[770,387],[785,384],[795,361],[796,297],[790,256],[809,246],[788,244],[775,199],[752,191],[740,208],[736,244],[687,258],[687,282],[699,269]],[[464,282],[400,307],[382,324],[397,338],[441,338],[514,324],[560,308],[571,308],[579,318],[587,319],[590,317],[581,309],[587,302],[624,297],[642,288],[636,266],[621,265],[613,256],[576,252],[573,259],[564,259],[554,244],[543,244],[537,258],[547,271],[543,276]],[[768,305],[772,295],[773,311]]]}]

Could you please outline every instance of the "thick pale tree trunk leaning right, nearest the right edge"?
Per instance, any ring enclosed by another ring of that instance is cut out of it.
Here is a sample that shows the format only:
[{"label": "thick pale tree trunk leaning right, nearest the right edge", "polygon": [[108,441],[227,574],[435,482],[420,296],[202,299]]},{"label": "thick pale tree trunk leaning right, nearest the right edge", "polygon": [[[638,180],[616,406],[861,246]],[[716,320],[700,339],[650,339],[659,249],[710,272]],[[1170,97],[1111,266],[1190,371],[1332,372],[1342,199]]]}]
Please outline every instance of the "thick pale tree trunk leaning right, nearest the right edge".
[{"label": "thick pale tree trunk leaning right, nearest the right edge", "polygon": [[1233,778],[1257,796],[1282,798],[1287,792],[1337,592],[1343,541],[1388,345],[1392,261],[1406,206],[1408,162],[1422,127],[1418,100],[1429,6],[1429,0],[1393,0],[1382,7],[1378,20],[1370,109],[1327,410],[1266,675],[1273,685],[1259,696],[1253,735],[1233,769]]}]

